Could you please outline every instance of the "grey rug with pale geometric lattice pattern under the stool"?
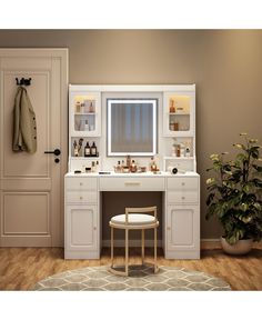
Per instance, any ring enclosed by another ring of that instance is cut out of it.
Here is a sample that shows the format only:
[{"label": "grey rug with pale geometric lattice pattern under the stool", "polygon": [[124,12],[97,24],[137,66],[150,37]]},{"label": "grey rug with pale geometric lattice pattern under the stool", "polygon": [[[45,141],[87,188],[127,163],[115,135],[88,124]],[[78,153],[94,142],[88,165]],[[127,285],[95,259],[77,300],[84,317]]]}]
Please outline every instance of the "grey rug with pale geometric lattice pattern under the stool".
[{"label": "grey rug with pale geometric lattice pattern under the stool", "polygon": [[200,271],[160,267],[153,273],[149,266],[130,266],[129,277],[115,276],[105,266],[87,267],[48,277],[37,291],[229,291],[229,283]]}]

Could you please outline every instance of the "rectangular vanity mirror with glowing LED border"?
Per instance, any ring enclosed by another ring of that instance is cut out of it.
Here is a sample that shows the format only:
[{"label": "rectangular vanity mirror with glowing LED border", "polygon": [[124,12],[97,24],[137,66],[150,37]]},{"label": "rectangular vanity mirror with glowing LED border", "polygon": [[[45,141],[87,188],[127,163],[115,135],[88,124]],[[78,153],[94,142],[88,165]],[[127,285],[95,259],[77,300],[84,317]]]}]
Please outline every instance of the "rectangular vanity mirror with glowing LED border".
[{"label": "rectangular vanity mirror with glowing LED border", "polygon": [[107,99],[108,156],[157,153],[158,99]]}]

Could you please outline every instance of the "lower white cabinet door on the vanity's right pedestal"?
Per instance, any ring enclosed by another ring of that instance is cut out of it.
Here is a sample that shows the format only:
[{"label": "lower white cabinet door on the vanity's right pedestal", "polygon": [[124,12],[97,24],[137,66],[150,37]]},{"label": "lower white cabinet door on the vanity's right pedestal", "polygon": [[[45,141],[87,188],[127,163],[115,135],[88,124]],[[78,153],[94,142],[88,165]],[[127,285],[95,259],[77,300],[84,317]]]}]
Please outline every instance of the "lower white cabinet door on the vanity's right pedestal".
[{"label": "lower white cabinet door on the vanity's right pedestal", "polygon": [[165,228],[168,251],[199,250],[198,206],[168,206]]}]

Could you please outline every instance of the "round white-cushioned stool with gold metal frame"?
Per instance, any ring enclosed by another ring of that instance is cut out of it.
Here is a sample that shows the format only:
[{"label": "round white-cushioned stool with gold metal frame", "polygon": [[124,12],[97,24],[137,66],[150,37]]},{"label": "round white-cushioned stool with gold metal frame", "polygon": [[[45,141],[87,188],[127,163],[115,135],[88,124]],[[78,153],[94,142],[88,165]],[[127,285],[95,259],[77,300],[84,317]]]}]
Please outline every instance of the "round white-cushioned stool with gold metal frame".
[{"label": "round white-cushioned stool with gold metal frame", "polygon": [[[145,214],[145,213],[153,213]],[[144,230],[154,229],[154,273],[159,268],[157,264],[157,228],[159,221],[157,218],[157,207],[145,208],[125,208],[125,214],[119,214],[111,218],[109,226],[111,227],[111,267],[110,270],[120,276],[129,276],[129,230],[141,230],[142,243],[141,243],[141,258],[142,264],[144,263]],[[113,229],[125,230],[125,263],[124,271],[115,270],[120,266],[113,264]]]}]

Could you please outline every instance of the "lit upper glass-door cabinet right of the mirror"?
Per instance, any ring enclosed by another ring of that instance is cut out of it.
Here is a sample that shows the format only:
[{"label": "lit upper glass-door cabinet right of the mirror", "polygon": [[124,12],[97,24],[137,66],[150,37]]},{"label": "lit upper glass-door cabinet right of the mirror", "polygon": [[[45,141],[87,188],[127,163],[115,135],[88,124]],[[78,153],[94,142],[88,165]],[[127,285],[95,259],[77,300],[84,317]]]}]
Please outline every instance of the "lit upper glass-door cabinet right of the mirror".
[{"label": "lit upper glass-door cabinet right of the mirror", "polygon": [[163,136],[194,136],[194,90],[163,93]]}]

